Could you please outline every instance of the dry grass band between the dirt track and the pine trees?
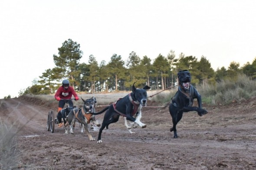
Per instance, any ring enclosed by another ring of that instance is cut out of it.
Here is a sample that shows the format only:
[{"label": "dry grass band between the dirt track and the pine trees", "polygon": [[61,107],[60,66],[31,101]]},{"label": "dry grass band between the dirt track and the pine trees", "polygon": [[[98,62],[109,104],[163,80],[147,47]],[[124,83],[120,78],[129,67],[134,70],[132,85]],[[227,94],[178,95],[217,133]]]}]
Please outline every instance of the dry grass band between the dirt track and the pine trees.
[{"label": "dry grass band between the dirt track and the pine trees", "polygon": [[[251,80],[246,75],[238,75],[236,79],[227,79],[215,84],[198,85],[198,92],[202,96],[202,102],[210,105],[229,104],[231,102],[240,102],[252,96],[256,96],[256,80]],[[165,91],[148,90],[148,100],[156,101],[161,105],[166,105],[171,101],[171,97],[175,95],[177,88]],[[98,105],[109,105],[117,101],[119,98],[126,96],[128,91],[118,93],[79,93],[79,97],[89,99],[96,97]],[[31,96],[31,95],[30,95]],[[33,95],[34,97],[56,102],[54,95]],[[151,97],[152,96],[152,97]],[[81,106],[82,100],[76,101],[75,105]]]}]

